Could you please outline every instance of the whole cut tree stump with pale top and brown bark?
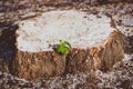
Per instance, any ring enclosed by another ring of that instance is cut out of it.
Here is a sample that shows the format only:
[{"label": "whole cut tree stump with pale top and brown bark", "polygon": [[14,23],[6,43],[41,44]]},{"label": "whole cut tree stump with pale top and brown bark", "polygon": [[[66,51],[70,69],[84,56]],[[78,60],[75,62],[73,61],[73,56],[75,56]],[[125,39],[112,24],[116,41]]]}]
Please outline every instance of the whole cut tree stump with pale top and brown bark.
[{"label": "whole cut tree stump with pale top and brown bark", "polygon": [[[69,72],[110,70],[123,59],[121,33],[106,16],[78,10],[48,11],[19,22],[12,75],[41,79]],[[59,55],[59,40],[71,43],[69,55]]]}]

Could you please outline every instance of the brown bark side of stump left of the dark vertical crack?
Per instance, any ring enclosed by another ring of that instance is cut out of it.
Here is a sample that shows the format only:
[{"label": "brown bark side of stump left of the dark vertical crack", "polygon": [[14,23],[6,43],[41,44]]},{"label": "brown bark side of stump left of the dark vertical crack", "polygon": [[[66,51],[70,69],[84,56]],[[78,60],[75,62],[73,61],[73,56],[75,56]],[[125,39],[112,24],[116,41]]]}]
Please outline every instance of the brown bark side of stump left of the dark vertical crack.
[{"label": "brown bark side of stump left of the dark vertical crack", "polygon": [[65,69],[65,56],[55,52],[17,52],[12,63],[12,73],[25,79],[41,79],[48,76],[59,76]]}]

